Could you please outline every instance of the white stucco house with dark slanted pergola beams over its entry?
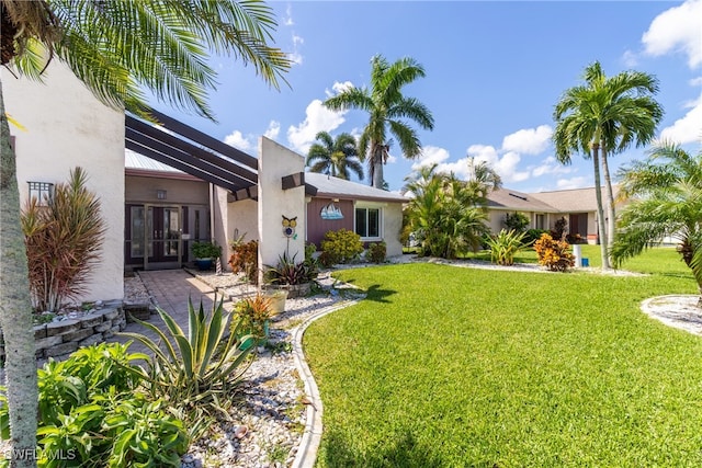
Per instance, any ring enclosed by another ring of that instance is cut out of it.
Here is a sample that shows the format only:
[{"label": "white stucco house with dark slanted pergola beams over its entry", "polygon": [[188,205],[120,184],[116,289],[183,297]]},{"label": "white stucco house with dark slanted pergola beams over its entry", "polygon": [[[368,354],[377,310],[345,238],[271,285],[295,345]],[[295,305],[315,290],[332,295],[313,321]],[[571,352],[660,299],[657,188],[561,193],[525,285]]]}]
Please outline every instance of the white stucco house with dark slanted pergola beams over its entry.
[{"label": "white stucco house with dark slanted pergola beams over its entry", "polygon": [[[339,201],[335,216],[343,216],[344,227],[362,229],[367,241],[385,240],[389,254],[401,253],[404,198],[397,195],[315,181],[304,172],[305,158],[267,138],[254,158],[163,114],[157,113],[161,127],[125,115],[98,101],[59,60],[43,82],[0,73],[5,110],[22,126],[11,127],[21,203],[50,197],[76,167],[100,198],[106,236],[80,300],[122,299],[125,267],[178,267],[192,260],[195,240],[228,246],[235,233],[247,232],[260,242],[260,264],[284,251],[302,258],[307,206],[317,206],[318,193],[327,205]],[[349,206],[352,213],[344,213]],[[309,216],[315,236],[320,216]],[[296,226],[282,226],[285,218]]]}]

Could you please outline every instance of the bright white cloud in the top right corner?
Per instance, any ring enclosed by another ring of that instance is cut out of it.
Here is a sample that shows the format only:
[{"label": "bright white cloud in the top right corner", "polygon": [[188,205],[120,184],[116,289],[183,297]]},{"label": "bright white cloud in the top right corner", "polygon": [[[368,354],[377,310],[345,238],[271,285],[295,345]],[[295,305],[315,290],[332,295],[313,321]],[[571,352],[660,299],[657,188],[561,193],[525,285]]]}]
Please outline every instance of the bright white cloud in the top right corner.
[{"label": "bright white cloud in the top right corner", "polygon": [[683,53],[688,66],[702,65],[702,0],[689,0],[654,19],[642,37],[644,50],[652,56]]}]

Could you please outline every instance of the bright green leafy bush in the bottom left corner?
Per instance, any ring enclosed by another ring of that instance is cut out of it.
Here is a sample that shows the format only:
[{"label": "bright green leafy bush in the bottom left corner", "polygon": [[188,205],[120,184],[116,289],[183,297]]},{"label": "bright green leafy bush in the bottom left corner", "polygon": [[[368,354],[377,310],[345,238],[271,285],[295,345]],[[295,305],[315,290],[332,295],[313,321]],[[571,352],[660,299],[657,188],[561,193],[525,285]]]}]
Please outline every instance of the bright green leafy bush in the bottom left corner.
[{"label": "bright green leafy bush in the bottom left corner", "polygon": [[[144,392],[129,344],[99,344],[37,370],[38,467],[179,467],[190,440],[161,399]],[[8,407],[0,395],[0,429],[9,437]],[[60,457],[57,456],[60,455]]]}]

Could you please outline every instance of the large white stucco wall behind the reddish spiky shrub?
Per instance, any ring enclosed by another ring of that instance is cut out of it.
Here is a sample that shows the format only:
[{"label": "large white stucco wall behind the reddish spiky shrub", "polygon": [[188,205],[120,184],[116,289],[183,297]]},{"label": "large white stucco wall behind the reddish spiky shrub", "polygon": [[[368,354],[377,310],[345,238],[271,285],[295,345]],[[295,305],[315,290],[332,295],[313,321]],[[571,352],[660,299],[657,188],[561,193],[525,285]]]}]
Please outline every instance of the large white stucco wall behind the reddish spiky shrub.
[{"label": "large white stucco wall behind the reddish spiky shrub", "polygon": [[26,130],[13,126],[20,201],[29,181],[59,183],[82,167],[88,187],[98,193],[106,225],[102,258],[82,300],[124,297],[124,112],[101,104],[55,59],[44,83],[0,71],[7,112]]}]

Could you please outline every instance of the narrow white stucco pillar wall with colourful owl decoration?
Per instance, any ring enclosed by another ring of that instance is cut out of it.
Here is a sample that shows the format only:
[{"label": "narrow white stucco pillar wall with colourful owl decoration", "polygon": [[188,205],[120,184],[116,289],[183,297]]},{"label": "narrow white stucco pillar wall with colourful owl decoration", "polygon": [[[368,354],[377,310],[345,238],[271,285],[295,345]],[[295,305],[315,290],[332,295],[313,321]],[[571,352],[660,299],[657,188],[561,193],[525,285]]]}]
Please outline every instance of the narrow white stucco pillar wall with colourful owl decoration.
[{"label": "narrow white stucco pillar wall with colourful owl decoration", "polygon": [[[283,252],[305,259],[305,187],[283,190],[282,178],[305,170],[305,158],[261,137],[259,140],[259,265],[274,265]],[[297,218],[297,235],[283,235],[283,216]],[[261,270],[262,271],[262,270]]]}]

